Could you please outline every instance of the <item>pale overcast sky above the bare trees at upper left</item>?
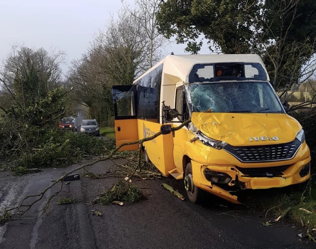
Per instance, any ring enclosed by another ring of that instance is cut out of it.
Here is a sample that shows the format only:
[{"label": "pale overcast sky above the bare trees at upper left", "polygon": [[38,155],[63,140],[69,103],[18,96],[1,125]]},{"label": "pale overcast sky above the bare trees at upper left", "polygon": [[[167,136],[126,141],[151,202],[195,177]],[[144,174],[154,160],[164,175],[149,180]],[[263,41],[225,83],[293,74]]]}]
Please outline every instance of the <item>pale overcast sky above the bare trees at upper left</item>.
[{"label": "pale overcast sky above the bare trees at upper left", "polygon": [[[0,61],[15,43],[52,47],[67,53],[66,73],[70,61],[81,57],[94,33],[104,29],[121,7],[121,0],[0,0]],[[184,47],[170,44],[166,50],[184,54]]]}]

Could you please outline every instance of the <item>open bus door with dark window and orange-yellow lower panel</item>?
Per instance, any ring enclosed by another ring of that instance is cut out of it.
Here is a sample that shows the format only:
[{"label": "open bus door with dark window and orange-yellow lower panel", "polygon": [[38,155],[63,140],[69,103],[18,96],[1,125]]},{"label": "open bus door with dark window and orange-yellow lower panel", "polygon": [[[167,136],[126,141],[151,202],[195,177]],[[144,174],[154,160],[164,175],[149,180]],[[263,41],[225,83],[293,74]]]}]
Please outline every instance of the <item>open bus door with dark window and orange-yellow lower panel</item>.
[{"label": "open bus door with dark window and orange-yellow lower panel", "polygon": [[[116,146],[138,140],[136,103],[137,86],[112,86]],[[123,146],[120,151],[138,150],[138,144]]]}]

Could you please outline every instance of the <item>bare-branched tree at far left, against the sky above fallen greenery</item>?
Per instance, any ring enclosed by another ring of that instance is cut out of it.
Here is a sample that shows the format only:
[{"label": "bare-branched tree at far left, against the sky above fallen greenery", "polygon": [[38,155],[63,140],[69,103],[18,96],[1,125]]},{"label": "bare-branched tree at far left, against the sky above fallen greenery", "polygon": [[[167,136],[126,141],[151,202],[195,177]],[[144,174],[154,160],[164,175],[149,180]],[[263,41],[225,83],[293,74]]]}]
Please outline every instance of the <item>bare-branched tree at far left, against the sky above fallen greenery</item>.
[{"label": "bare-branched tree at far left, against the sky above fallen greenery", "polygon": [[12,46],[0,72],[1,94],[11,96],[11,100],[21,106],[45,96],[48,91],[60,86],[60,64],[64,63],[64,59],[63,51]]}]

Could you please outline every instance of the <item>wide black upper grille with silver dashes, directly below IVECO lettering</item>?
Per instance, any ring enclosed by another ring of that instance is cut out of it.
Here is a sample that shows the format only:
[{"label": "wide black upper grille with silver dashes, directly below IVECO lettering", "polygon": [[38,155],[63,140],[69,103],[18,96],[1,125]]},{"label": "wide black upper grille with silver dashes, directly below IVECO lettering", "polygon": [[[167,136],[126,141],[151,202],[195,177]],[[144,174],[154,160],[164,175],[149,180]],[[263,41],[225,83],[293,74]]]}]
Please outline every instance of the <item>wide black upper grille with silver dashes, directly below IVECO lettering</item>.
[{"label": "wide black upper grille with silver dashes, directly below IVECO lettering", "polygon": [[292,142],[278,145],[232,146],[226,145],[224,150],[236,157],[240,162],[267,162],[291,159],[300,148],[301,142],[295,139]]}]

